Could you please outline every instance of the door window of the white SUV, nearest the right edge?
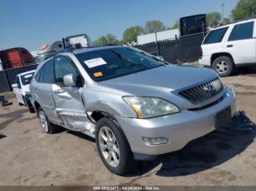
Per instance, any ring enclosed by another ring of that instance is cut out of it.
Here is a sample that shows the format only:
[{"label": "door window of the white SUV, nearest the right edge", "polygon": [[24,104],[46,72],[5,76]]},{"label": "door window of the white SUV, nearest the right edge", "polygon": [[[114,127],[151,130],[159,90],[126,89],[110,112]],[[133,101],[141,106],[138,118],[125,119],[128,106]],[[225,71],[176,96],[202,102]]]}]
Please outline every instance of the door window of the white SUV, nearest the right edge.
[{"label": "door window of the white SUV, nearest the right edge", "polygon": [[252,39],[254,21],[234,26],[228,41]]}]

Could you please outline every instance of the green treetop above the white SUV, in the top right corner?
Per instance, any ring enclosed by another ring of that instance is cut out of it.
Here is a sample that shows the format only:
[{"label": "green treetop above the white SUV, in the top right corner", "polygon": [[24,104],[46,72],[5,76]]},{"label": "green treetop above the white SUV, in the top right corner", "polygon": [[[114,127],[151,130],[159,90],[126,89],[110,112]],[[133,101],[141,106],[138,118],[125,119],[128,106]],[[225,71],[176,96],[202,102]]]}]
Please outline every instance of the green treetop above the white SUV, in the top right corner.
[{"label": "green treetop above the white SUV, in the top right corner", "polygon": [[256,0],[240,0],[231,11],[233,20],[243,20],[256,15]]}]

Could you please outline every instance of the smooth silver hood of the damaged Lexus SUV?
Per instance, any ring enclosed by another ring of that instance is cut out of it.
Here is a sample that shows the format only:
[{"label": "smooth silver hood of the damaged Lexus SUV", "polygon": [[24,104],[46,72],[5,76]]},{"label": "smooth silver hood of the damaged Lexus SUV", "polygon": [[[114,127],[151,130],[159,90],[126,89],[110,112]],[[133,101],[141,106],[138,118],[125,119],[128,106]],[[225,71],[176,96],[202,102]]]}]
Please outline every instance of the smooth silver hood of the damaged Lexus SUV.
[{"label": "smooth silver hood of the damaged Lexus SUV", "polygon": [[168,90],[170,92],[184,89],[217,77],[217,73],[211,69],[168,65],[109,79],[99,82],[99,85],[133,95],[143,95],[152,90]]}]

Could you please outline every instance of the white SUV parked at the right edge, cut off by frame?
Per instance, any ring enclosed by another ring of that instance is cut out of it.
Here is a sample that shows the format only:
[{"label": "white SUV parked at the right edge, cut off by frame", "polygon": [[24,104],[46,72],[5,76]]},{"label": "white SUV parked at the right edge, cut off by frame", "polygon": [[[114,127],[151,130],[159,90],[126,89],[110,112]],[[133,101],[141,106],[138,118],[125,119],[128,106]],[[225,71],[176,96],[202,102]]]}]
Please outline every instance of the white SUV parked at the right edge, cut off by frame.
[{"label": "white SUV parked at the right edge, cut off by frame", "polygon": [[256,19],[214,28],[203,40],[200,64],[230,76],[239,66],[256,63]]}]

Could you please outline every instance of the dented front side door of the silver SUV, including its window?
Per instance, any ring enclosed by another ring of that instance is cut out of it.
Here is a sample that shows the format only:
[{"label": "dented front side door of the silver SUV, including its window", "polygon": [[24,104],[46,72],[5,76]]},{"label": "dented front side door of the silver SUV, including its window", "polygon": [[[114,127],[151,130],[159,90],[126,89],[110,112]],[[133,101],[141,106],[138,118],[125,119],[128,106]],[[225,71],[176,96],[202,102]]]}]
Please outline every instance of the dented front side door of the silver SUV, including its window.
[{"label": "dented front side door of the silver SUV, including its window", "polygon": [[[77,67],[67,56],[54,58],[54,71],[56,84],[52,86],[56,112],[61,117],[66,128],[80,130],[93,130],[92,123],[86,116],[86,109],[82,100],[83,77]],[[64,85],[64,76],[73,74],[77,85],[67,87]],[[91,132],[92,133],[92,132]]]}]

